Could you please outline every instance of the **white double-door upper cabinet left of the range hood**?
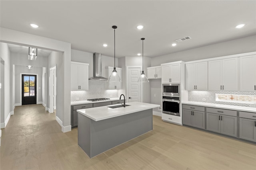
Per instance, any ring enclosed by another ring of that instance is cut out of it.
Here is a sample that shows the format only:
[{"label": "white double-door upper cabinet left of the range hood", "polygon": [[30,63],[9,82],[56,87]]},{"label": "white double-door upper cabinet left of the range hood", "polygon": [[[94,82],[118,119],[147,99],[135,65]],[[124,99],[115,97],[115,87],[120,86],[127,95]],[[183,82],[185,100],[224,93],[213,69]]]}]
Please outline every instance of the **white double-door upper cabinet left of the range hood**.
[{"label": "white double-door upper cabinet left of the range hood", "polygon": [[89,90],[87,63],[71,62],[71,90]]}]

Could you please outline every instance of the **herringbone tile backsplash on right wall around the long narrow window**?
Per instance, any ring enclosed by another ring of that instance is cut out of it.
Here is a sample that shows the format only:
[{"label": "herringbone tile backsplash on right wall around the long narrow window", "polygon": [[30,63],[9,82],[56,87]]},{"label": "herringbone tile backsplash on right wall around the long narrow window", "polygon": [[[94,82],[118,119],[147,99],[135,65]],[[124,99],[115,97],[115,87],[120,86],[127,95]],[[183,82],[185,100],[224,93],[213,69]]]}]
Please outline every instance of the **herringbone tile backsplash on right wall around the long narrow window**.
[{"label": "herringbone tile backsplash on right wall around the long narrow window", "polygon": [[248,103],[216,101],[216,94],[254,95],[256,92],[188,91],[188,101],[250,107]]}]

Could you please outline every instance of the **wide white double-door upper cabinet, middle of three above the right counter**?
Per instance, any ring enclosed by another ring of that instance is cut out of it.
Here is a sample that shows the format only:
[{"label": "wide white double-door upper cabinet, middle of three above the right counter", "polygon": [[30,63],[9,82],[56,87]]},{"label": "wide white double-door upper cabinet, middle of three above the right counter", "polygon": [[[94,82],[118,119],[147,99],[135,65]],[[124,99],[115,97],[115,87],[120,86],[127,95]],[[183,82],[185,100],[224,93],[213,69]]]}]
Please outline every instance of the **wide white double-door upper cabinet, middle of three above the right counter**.
[{"label": "wide white double-door upper cabinet, middle of three above the right counter", "polygon": [[238,91],[238,58],[208,61],[208,90]]}]

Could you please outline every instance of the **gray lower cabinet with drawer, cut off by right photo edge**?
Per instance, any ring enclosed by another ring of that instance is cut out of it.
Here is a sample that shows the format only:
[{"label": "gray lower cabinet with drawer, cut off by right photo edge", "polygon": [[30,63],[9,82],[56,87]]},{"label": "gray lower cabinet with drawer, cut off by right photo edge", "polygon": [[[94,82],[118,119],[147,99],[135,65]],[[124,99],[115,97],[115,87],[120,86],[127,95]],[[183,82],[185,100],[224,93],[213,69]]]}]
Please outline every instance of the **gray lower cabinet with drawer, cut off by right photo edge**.
[{"label": "gray lower cabinet with drawer, cut off by right photo edge", "polygon": [[256,113],[239,112],[239,138],[256,142]]}]

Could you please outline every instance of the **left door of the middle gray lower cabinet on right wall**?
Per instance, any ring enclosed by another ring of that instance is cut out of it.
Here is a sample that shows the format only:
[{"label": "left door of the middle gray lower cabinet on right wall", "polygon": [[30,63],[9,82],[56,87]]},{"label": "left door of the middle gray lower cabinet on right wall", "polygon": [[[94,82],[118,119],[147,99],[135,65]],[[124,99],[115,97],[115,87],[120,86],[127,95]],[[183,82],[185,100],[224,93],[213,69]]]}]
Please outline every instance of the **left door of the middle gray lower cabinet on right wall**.
[{"label": "left door of the middle gray lower cabinet on right wall", "polygon": [[215,113],[206,113],[206,129],[220,133],[220,115]]}]

